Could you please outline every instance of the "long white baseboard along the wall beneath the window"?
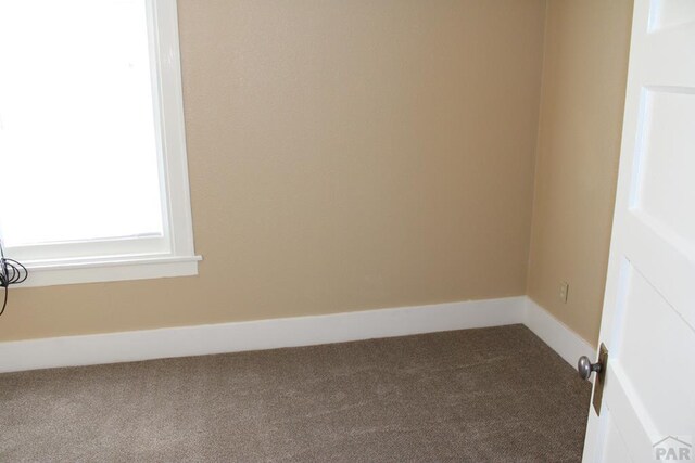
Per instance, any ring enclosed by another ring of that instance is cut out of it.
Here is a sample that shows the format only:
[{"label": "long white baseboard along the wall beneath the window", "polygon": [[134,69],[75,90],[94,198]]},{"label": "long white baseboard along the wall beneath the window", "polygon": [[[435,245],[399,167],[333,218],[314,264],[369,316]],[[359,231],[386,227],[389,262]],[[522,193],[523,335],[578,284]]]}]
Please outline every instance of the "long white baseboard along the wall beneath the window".
[{"label": "long white baseboard along the wall beneath the window", "polygon": [[[528,312],[527,304],[527,298],[520,296],[316,317],[5,342],[0,343],[0,372],[311,346],[523,323]],[[546,331],[549,332],[544,329],[543,333]],[[551,347],[554,345],[551,344]]]}]

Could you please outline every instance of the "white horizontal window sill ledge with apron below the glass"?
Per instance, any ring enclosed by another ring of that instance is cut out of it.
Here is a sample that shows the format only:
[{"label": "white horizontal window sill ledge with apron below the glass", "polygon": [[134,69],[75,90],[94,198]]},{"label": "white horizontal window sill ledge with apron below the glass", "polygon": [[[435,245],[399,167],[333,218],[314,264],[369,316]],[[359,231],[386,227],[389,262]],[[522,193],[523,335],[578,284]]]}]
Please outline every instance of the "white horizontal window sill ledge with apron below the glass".
[{"label": "white horizontal window sill ledge with apron below the glass", "polygon": [[117,256],[24,262],[29,278],[12,288],[198,274],[201,256]]}]

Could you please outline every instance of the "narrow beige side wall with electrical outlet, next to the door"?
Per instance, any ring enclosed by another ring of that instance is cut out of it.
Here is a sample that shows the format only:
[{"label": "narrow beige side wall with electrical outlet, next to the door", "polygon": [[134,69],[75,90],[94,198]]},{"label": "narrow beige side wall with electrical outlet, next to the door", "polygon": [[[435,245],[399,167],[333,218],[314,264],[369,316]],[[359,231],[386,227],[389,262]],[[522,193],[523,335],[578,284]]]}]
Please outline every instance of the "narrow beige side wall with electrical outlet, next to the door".
[{"label": "narrow beige side wall with electrical outlet, next to the door", "polygon": [[[549,0],[528,294],[598,339],[620,154],[631,0]],[[567,304],[559,300],[569,283]]]}]

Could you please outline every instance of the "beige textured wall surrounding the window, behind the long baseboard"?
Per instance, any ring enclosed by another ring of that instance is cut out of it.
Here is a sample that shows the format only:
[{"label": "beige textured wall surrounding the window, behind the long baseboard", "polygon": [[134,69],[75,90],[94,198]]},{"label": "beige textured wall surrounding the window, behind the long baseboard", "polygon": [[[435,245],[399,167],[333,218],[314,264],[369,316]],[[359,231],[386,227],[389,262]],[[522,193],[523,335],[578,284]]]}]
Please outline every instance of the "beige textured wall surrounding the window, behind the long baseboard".
[{"label": "beige textured wall surrounding the window, behind the long baseboard", "polygon": [[182,0],[198,278],[12,291],[0,339],[526,291],[543,0]]}]

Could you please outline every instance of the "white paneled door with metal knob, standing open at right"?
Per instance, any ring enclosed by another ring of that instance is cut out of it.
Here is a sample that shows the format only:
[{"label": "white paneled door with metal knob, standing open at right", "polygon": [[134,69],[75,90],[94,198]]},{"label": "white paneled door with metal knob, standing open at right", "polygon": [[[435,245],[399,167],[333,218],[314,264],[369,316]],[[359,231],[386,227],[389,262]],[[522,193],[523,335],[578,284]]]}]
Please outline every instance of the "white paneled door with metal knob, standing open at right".
[{"label": "white paneled door with metal knob, standing open at right", "polygon": [[695,461],[695,0],[635,0],[601,343],[584,462]]}]

